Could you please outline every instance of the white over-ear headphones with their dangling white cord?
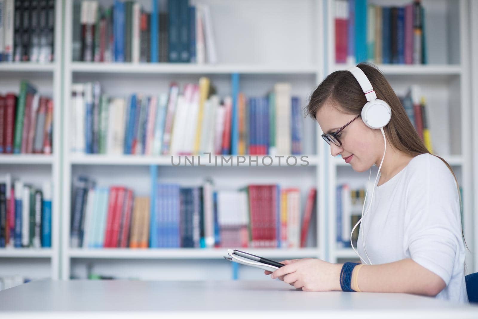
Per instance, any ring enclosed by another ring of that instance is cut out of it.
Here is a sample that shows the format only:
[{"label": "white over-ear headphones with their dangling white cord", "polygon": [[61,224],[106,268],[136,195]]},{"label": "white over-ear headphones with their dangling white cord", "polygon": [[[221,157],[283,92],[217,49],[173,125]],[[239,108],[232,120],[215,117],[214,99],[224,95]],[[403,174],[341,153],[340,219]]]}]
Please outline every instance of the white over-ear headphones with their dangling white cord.
[{"label": "white over-ear headphones with their dangling white cord", "polygon": [[[388,105],[387,102],[383,100],[377,99],[377,95],[375,94],[375,91],[373,90],[372,85],[370,84],[369,79],[363,73],[362,70],[360,70],[359,67],[353,66],[350,69],[348,69],[351,74],[357,79],[359,82],[360,87],[362,88],[363,93],[365,94],[365,97],[367,98],[367,103],[362,107],[362,121],[367,125],[369,128],[374,128],[374,129],[380,129],[382,132],[383,136],[383,141],[385,143],[385,149],[383,150],[383,157],[380,162],[379,166],[379,171],[377,172],[377,177],[375,178],[375,183],[373,184],[373,191],[372,191],[372,197],[370,198],[369,202],[369,207],[367,208],[367,212],[365,214],[363,213],[365,209],[365,202],[367,200],[367,193],[369,192],[369,183],[370,183],[370,175],[372,174],[372,168],[370,168],[370,174],[369,174],[369,181],[367,183],[367,191],[365,192],[365,199],[363,202],[363,207],[362,207],[362,216],[360,220],[355,224],[355,226],[352,228],[352,231],[350,232],[350,245],[352,245],[352,249],[354,252],[359,256],[361,260],[367,264],[364,258],[360,257],[359,253],[355,250],[354,245],[352,244],[352,234],[359,225],[359,223],[362,221],[363,217],[369,212],[370,206],[372,204],[373,200],[373,194],[375,192],[375,186],[377,185],[377,179],[380,174],[380,169],[383,164],[383,159],[385,159],[385,152],[387,150],[387,140],[385,138],[385,132],[383,131],[383,127],[385,127],[391,119],[391,107]],[[369,265],[373,265],[372,262],[370,261],[369,255],[367,254],[367,250],[365,249],[365,229],[362,223],[362,245],[363,249],[365,251],[365,255],[367,255],[367,259],[369,260]]]}]

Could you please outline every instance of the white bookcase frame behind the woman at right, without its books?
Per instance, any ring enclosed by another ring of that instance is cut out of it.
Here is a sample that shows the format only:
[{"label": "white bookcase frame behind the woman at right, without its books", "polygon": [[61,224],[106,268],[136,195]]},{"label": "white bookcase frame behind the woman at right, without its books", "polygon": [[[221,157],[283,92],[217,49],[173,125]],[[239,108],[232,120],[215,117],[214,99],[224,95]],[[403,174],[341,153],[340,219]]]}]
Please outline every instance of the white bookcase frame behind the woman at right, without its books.
[{"label": "white bookcase frame behind the woman at right, without its books", "polygon": [[[404,6],[411,1],[406,0],[373,0],[371,4],[379,6]],[[326,72],[345,70],[352,66],[337,64],[335,61],[335,25],[334,11],[336,1],[327,1],[327,57]],[[442,156],[452,167],[459,185],[463,188],[463,218],[464,234],[468,247],[466,264],[469,273],[477,269],[476,259],[473,260],[473,234],[476,230],[476,214],[473,210],[473,182],[471,157],[471,87],[470,83],[470,55],[468,16],[469,2],[465,0],[427,1],[422,0],[425,8],[426,46],[428,47],[428,64],[426,65],[397,65],[378,64],[378,67],[390,81],[398,95],[404,95],[408,85],[418,84],[421,93],[426,97],[427,104],[434,112],[429,112],[429,122],[432,131],[432,140],[435,139],[434,149],[437,155]],[[471,15],[473,16],[473,15]],[[443,23],[446,21],[446,23]],[[435,138],[434,138],[435,137]],[[440,145],[436,141],[444,141]],[[458,141],[458,142],[454,142]],[[327,149],[328,151],[328,149]],[[348,183],[351,188],[365,187],[369,172],[354,172],[349,164],[340,157],[331,157],[324,152],[325,169],[328,180],[326,194],[330,212],[327,217],[327,243],[330,262],[358,260],[351,248],[337,248],[336,242],[336,186]],[[475,160],[476,162],[476,160]],[[371,182],[377,174],[377,168],[372,170]],[[476,186],[475,186],[476,189]],[[475,191],[476,194],[476,191]],[[475,215],[475,217],[474,217]],[[475,224],[473,224],[475,223]],[[475,247],[476,239],[475,239]],[[476,248],[475,248],[476,251]],[[476,258],[476,257],[474,257]],[[473,265],[475,262],[475,266]]]}]

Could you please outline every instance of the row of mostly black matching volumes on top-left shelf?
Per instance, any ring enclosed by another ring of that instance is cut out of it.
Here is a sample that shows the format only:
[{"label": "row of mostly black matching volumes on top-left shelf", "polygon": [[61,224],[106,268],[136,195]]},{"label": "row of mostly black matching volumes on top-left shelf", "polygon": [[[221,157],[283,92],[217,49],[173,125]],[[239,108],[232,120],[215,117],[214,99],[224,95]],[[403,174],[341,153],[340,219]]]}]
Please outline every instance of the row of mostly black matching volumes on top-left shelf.
[{"label": "row of mostly black matching volumes on top-left shelf", "polygon": [[54,59],[55,0],[0,0],[0,62]]}]

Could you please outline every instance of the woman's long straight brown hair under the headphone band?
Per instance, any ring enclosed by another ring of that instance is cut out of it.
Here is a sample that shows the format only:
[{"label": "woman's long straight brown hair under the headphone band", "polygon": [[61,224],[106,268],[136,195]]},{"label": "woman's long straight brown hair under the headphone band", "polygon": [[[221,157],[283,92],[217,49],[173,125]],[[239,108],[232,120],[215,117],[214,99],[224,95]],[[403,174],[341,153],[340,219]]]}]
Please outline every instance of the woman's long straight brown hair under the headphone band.
[{"label": "woman's long straight brown hair under the headphone band", "polygon": [[[391,88],[391,85],[388,83],[385,76],[373,64],[360,63],[357,64],[357,66],[369,79],[370,84],[377,94],[377,98],[384,100],[391,107],[392,116],[390,122],[383,128],[388,142],[395,149],[412,157],[424,153],[430,154],[425,147],[423,140],[419,137],[417,131],[413,127],[412,122],[408,118],[400,99]],[[359,82],[357,82],[355,77],[349,71],[336,71],[329,74],[310,96],[309,103],[306,106],[307,115],[316,119],[315,114],[326,103],[336,107],[346,114],[359,115],[362,111],[362,107],[367,103],[367,99],[363,94]],[[435,154],[432,155],[441,159],[453,174],[456,181],[456,189],[458,191],[461,209],[462,202],[460,188],[455,173],[445,159],[442,159]],[[461,234],[466,245],[463,229]]]}]

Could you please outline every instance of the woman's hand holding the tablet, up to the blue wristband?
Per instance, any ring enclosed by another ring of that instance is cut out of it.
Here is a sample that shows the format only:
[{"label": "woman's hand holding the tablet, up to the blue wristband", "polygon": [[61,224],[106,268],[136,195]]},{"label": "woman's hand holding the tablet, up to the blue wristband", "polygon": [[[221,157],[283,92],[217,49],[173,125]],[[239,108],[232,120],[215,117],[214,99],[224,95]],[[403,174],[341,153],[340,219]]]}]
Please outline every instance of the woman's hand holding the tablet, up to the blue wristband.
[{"label": "woman's hand holding the tablet, up to the blue wristband", "polygon": [[331,264],[315,258],[284,260],[281,263],[285,266],[273,273],[270,271],[264,273],[272,274],[272,279],[279,278],[304,291],[341,290],[339,281],[341,264]]}]

